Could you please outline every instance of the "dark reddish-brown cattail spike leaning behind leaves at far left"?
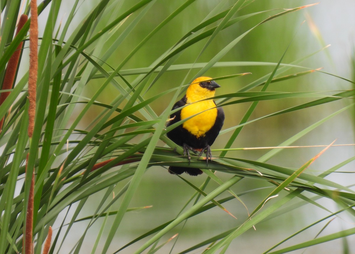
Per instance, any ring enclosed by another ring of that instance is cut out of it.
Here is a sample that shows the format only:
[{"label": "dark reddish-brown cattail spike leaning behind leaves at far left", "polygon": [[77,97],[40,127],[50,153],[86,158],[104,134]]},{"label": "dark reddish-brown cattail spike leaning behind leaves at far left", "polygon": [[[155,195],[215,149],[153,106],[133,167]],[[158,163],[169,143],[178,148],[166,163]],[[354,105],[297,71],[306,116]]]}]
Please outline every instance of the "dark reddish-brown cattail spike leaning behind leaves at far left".
[{"label": "dark reddish-brown cattail spike leaning behind leaves at far left", "polygon": [[[20,16],[20,20],[18,21],[17,24],[17,30],[16,30],[16,35],[18,32],[20,32],[21,28],[23,27],[24,23],[26,23],[28,17],[26,14],[22,14]],[[21,54],[21,49],[22,49],[23,42],[21,42],[17,48],[16,51],[13,52],[12,56],[9,59],[9,62],[7,63],[6,67],[6,72],[5,72],[5,77],[4,77],[4,83],[2,83],[2,90],[7,90],[11,89],[13,85],[13,81],[15,79],[16,75],[16,70],[18,66],[18,60],[20,60],[20,54]],[[6,100],[7,96],[9,96],[10,92],[2,92],[0,94],[0,105]],[[4,123],[4,117],[0,120],[0,132],[2,130],[2,125]]]}]

